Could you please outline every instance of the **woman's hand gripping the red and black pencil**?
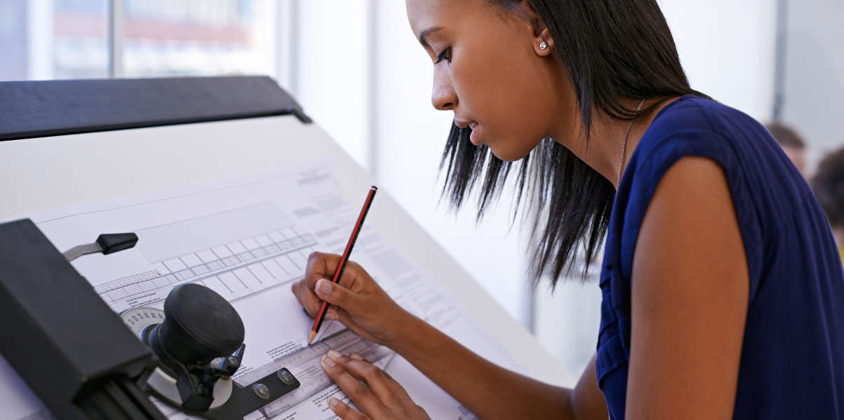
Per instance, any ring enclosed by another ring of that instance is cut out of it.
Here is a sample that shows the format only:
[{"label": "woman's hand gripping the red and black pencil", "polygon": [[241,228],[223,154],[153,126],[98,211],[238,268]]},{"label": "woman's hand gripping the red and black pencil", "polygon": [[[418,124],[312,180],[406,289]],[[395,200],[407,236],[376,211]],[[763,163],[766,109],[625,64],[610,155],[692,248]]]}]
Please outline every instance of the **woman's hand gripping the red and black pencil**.
[{"label": "woman's hand gripping the red and black pencil", "polygon": [[322,302],[331,304],[325,319],[339,320],[344,326],[371,342],[390,346],[407,326],[403,310],[357,263],[349,261],[338,284],[331,279],[340,256],[314,252],[308,257],[305,278],[293,283],[299,304],[311,318],[319,314]]}]

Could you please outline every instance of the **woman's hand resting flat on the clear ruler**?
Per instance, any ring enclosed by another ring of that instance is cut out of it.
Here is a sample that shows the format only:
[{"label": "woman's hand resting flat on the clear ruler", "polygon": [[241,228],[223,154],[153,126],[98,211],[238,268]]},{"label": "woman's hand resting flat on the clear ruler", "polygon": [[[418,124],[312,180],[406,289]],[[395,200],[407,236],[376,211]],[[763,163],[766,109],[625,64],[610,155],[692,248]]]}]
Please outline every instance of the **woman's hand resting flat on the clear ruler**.
[{"label": "woman's hand resting flat on the clear ruler", "polygon": [[369,363],[358,353],[351,357],[335,351],[322,358],[322,369],[363,412],[337,398],[328,400],[328,407],[344,420],[428,419],[428,414],[408,396],[387,372]]}]

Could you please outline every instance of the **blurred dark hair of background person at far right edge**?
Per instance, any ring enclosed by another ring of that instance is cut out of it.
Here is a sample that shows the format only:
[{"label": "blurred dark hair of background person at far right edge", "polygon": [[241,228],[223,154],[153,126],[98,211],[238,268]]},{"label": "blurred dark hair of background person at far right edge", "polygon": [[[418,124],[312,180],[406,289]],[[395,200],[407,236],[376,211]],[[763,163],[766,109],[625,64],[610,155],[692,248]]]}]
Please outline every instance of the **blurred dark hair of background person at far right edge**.
[{"label": "blurred dark hair of background person at far right edge", "polygon": [[833,228],[844,227],[844,148],[826,157],[812,177],[812,190]]}]

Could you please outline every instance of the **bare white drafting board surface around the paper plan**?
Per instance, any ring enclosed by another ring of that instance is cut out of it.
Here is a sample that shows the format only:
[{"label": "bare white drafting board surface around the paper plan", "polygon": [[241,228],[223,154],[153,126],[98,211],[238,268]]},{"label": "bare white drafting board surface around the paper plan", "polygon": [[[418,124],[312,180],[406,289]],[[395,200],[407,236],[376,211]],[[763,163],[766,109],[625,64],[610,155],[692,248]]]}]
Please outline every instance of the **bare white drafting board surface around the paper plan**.
[{"label": "bare white drafting board surface around the paper plan", "polygon": [[[360,191],[374,184],[371,175],[320,127],[292,116],[0,142],[0,220],[259,175],[326,156],[346,199],[360,201]],[[473,278],[436,245],[390,191],[379,191],[366,223],[436,277],[523,366],[522,374],[574,384],[574,376],[479,285],[483,279]]]}]

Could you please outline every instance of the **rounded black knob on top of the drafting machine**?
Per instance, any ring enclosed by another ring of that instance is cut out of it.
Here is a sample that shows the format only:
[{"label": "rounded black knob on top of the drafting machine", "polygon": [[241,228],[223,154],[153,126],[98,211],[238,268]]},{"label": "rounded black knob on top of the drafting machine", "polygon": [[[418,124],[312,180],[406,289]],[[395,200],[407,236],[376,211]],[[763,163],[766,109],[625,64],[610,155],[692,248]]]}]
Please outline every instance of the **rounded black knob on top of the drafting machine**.
[{"label": "rounded black knob on top of the drafting machine", "polygon": [[244,327],[229,301],[210,288],[187,283],[170,290],[165,321],[150,331],[150,347],[166,362],[206,364],[241,347]]}]

